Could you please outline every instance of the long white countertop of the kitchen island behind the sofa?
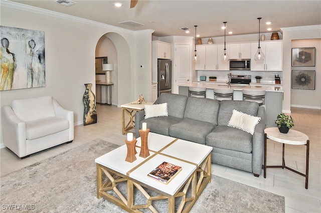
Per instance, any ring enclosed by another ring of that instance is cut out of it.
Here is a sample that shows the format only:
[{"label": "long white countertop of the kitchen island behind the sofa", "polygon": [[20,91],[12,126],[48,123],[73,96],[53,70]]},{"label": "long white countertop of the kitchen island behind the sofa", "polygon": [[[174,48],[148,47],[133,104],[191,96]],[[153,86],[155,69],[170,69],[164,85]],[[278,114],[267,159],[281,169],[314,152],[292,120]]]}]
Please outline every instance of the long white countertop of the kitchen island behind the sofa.
[{"label": "long white countertop of the kitchen island behind the sofa", "polygon": [[[179,86],[194,86],[194,87],[206,87],[208,89],[214,89],[214,88],[228,88],[228,85],[226,82],[221,81],[193,81],[190,83],[183,83]],[[244,84],[231,84],[231,87],[234,90],[242,90],[242,89],[253,89],[253,90],[265,90],[265,91],[276,91],[276,92],[282,92],[282,85],[281,84],[250,84],[250,85],[244,85]]]}]

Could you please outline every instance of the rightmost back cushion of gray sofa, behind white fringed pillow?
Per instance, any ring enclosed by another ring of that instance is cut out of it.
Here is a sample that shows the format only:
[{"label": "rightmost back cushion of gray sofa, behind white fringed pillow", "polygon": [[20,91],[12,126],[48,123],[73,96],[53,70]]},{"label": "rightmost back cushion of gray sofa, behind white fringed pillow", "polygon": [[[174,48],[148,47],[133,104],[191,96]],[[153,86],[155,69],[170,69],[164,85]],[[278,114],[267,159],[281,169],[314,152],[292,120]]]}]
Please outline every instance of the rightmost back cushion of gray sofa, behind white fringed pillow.
[{"label": "rightmost back cushion of gray sofa, behind white fringed pillow", "polygon": [[221,100],[218,113],[218,125],[227,125],[231,119],[233,109],[253,116],[257,115],[259,104],[254,101],[246,100]]}]

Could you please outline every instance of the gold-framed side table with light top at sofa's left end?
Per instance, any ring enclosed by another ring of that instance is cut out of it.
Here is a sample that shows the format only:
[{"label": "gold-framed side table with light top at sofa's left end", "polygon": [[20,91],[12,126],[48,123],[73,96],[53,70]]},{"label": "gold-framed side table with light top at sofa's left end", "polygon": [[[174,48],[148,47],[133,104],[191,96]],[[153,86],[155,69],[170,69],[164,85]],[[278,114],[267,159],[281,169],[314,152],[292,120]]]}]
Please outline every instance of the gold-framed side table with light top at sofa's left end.
[{"label": "gold-framed side table with light top at sofa's left end", "polygon": [[[121,105],[121,133],[125,134],[130,129],[135,128],[135,113],[144,109],[145,105],[151,105],[152,102],[145,102],[141,104],[126,103]],[[129,116],[129,121],[125,124],[125,114]],[[135,132],[133,132],[135,134]]]}]

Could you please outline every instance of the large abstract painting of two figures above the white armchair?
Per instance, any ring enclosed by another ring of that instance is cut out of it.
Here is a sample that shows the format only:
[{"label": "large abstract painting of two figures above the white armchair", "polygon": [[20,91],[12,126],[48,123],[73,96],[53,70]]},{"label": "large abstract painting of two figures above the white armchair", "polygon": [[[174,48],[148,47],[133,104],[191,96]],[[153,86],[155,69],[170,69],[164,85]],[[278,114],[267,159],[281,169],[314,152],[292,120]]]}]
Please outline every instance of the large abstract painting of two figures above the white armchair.
[{"label": "large abstract painting of two figures above the white armchair", "polygon": [[46,86],[45,32],[0,26],[0,90]]}]

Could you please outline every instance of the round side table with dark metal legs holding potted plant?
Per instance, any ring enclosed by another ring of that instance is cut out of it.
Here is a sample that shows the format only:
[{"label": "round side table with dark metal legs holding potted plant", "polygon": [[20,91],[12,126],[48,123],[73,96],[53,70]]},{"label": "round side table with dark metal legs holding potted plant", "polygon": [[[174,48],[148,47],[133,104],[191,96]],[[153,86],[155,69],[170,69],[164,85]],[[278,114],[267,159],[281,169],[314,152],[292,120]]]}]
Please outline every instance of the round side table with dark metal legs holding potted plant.
[{"label": "round side table with dark metal legs holding potted plant", "polygon": [[[306,134],[290,129],[288,133],[284,134],[279,131],[277,127],[270,127],[264,129],[264,178],[266,178],[266,168],[286,168],[290,171],[293,171],[297,174],[300,174],[305,177],[305,188],[307,189],[308,184],[308,170],[309,170],[309,138]],[[276,142],[283,143],[282,148],[282,165],[266,165],[266,141],[267,138],[274,140]],[[305,174],[296,171],[292,168],[289,168],[285,165],[284,161],[284,144],[291,145],[306,145],[306,163],[305,163]]]}]

